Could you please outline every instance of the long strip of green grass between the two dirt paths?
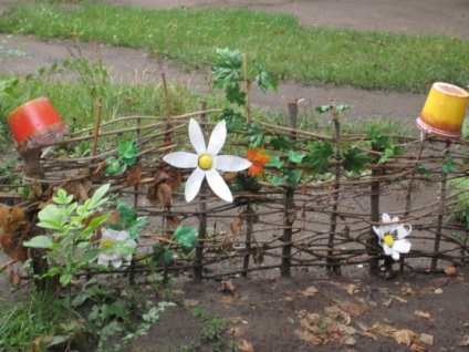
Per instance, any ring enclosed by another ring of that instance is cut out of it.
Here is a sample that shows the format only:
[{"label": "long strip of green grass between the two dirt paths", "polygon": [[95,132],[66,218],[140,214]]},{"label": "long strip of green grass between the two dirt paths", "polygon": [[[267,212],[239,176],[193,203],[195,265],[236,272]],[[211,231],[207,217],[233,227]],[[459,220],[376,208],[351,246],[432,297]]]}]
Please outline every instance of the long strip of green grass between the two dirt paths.
[{"label": "long strip of green grass between the two dirt paths", "polygon": [[14,6],[0,19],[0,30],[145,49],[191,69],[211,63],[215,48],[239,49],[278,76],[305,84],[426,92],[435,81],[469,81],[463,39],[306,28],[293,15],[244,9],[39,2]]}]

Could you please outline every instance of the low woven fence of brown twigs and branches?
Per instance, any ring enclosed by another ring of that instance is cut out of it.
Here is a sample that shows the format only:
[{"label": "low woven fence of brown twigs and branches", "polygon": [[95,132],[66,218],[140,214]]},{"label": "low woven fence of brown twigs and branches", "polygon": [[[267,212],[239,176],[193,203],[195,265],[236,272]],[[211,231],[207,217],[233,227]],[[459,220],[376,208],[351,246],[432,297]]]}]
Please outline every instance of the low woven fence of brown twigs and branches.
[{"label": "low woven fence of brown twigs and branches", "polygon": [[[325,175],[312,175],[304,165],[286,164],[284,167],[301,167],[302,178],[295,189],[271,184],[269,175],[278,170],[267,168],[264,177],[260,178],[261,189],[256,193],[233,191],[232,204],[219,200],[209,187],[202,187],[196,199],[187,204],[183,195],[184,180],[190,170],[183,169],[183,184],[171,194],[170,206],[152,204],[147,199],[148,188],[156,185],[158,173],[168,167],[161,156],[170,151],[191,149],[187,133],[189,118],[207,115],[210,117],[207,120],[212,121],[220,113],[204,110],[171,116],[170,124],[167,117],[129,116],[101,124],[98,134],[94,128],[71,133],[64,141],[55,143],[55,151],[73,151],[81,142],[90,141],[96,146],[95,155],[74,158],[45,155],[32,174],[28,164],[38,154],[27,155],[22,166],[2,176],[0,197],[9,206],[21,206],[35,213],[41,201],[49,199],[59,187],[75,191],[80,200],[84,197],[83,189],[87,189],[80,188],[80,185],[91,183],[95,189],[110,183],[111,194],[118,194],[133,204],[139,216],[148,216],[132,265],[135,272],[149,269],[149,261],[144,259],[152,256],[153,246],[168,237],[175,224],[181,224],[199,227],[198,246],[190,256],[175,256],[165,270],[195,269],[197,278],[212,278],[271,269],[289,276],[293,268],[308,267],[324,267],[338,273],[347,266],[366,265],[372,273],[377,273],[383,262],[386,270],[393,268],[389,257],[384,256],[377,246],[372,228],[381,221],[382,213],[398,216],[414,229],[408,237],[413,244],[410,252],[395,265],[399,270],[436,271],[465,262],[468,230],[465,221],[458,220],[458,206],[466,200],[466,194],[451,183],[466,177],[468,144],[465,141],[449,143],[435,137],[421,141],[392,136],[404,153],[383,164],[367,164],[365,172],[353,175],[345,173],[340,155],[331,159]],[[207,131],[215,125],[204,123],[204,118],[199,121]],[[300,152],[311,141],[358,146],[369,138],[367,135],[338,133],[321,135],[292,126],[262,126],[267,135],[288,136]],[[248,145],[242,134],[242,131],[229,130],[222,152],[244,155]],[[138,185],[128,185],[128,172],[102,173],[105,158],[117,154],[116,139],[132,139],[139,147],[142,176]],[[278,153],[270,151],[269,145],[265,151],[272,155]],[[378,151],[375,154],[372,149],[361,152],[379,156]],[[442,165],[448,155],[457,167],[445,173]],[[35,178],[37,175],[41,175],[40,179]],[[225,176],[228,179],[229,175]],[[23,179],[22,184],[10,182],[18,178]],[[32,188],[42,185],[43,191],[35,196],[30,194],[31,199],[24,199],[18,189],[27,185]]]}]

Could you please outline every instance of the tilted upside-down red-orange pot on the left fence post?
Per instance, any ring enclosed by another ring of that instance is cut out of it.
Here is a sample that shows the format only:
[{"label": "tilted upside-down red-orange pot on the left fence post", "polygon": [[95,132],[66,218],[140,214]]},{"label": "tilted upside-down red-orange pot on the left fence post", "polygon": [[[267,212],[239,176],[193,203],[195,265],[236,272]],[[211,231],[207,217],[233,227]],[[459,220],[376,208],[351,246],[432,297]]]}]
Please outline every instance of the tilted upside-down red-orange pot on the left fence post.
[{"label": "tilted upside-down red-orange pot on the left fence post", "polygon": [[13,110],[8,115],[8,124],[20,148],[38,147],[60,141],[69,130],[52,103],[44,96]]}]

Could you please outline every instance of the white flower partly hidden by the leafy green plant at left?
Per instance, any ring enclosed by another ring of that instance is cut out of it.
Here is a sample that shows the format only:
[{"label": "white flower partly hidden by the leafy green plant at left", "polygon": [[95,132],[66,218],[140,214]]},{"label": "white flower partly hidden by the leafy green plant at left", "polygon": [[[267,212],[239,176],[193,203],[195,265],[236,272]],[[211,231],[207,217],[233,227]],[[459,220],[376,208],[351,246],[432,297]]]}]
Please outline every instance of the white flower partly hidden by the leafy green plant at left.
[{"label": "white flower partly hidden by the leafy green plant at left", "polygon": [[[104,228],[101,235],[100,247],[110,247],[115,241],[124,241],[125,244],[123,247],[137,247],[137,242],[131,238],[131,234],[128,234],[128,231],[116,231]],[[132,253],[122,256],[118,252],[102,252],[97,256],[97,263],[106,267],[111,263],[114,268],[121,268],[123,260],[131,261]]]}]

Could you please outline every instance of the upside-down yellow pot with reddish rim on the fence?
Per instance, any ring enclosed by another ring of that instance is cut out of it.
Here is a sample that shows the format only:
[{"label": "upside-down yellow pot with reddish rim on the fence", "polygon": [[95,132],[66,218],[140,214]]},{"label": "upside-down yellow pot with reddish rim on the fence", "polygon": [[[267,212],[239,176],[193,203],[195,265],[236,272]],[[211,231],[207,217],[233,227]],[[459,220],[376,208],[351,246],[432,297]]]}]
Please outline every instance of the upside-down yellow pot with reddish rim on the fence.
[{"label": "upside-down yellow pot with reddish rim on the fence", "polygon": [[417,118],[417,127],[424,133],[458,139],[461,136],[468,101],[469,93],[463,89],[449,83],[434,83]]}]

